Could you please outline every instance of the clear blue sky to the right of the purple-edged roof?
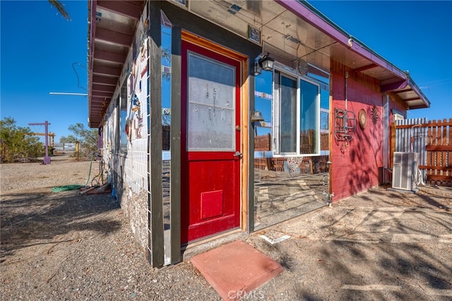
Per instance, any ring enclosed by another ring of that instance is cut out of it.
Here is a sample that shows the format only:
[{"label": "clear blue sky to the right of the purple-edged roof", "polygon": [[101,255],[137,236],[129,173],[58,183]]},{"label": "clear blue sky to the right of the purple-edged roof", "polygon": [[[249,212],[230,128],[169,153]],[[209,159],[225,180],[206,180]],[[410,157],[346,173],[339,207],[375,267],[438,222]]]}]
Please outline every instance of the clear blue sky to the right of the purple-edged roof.
[{"label": "clear blue sky to the right of the purple-edged roof", "polygon": [[452,1],[309,1],[411,78],[432,103],[408,118],[452,118]]}]

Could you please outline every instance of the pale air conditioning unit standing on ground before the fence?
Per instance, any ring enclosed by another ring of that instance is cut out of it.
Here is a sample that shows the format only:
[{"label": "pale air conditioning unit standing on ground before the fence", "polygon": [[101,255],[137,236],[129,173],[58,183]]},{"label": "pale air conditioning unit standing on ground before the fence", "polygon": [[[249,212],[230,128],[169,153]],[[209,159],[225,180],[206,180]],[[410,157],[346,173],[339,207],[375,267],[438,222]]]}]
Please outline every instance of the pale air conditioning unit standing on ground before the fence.
[{"label": "pale air conditioning unit standing on ground before the fence", "polygon": [[415,190],[414,176],[417,173],[419,154],[417,152],[394,152],[393,188]]}]

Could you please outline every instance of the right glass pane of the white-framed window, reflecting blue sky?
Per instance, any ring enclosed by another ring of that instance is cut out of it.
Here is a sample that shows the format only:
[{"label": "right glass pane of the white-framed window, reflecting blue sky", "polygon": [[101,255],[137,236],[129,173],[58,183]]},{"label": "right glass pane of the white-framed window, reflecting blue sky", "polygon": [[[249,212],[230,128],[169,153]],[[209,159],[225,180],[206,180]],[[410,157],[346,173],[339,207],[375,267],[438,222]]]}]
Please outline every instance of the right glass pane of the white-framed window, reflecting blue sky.
[{"label": "right glass pane of the white-framed window, reflecting blue sky", "polygon": [[317,119],[319,109],[317,99],[319,86],[300,80],[300,153],[316,154],[318,152],[319,133]]}]

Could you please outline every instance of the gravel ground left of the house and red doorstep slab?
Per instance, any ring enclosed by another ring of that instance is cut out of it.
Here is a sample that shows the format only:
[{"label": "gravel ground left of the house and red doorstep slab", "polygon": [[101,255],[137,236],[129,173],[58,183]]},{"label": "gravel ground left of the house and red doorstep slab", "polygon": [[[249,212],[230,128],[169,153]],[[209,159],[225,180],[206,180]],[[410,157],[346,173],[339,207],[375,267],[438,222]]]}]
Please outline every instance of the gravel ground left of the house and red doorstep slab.
[{"label": "gravel ground left of the house and red doorstep slab", "polygon": [[111,195],[51,192],[84,185],[90,161],[0,168],[1,300],[219,298],[190,262],[152,269]]}]

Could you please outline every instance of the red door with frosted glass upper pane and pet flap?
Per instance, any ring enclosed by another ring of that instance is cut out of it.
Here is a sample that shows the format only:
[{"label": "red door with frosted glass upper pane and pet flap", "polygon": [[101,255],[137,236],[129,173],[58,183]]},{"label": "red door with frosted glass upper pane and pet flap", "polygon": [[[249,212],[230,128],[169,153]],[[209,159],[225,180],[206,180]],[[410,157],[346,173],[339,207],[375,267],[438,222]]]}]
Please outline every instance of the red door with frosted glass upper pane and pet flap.
[{"label": "red door with frosted glass upper pane and pet flap", "polygon": [[240,61],[182,42],[182,243],[240,223]]}]

